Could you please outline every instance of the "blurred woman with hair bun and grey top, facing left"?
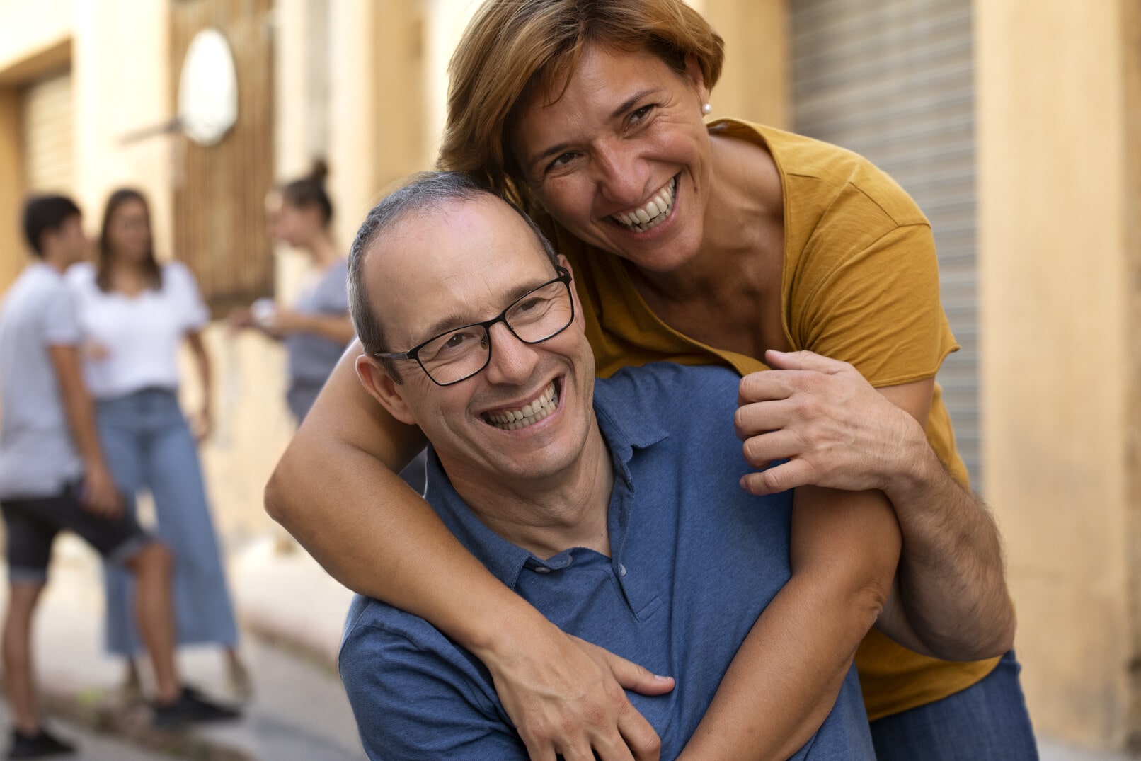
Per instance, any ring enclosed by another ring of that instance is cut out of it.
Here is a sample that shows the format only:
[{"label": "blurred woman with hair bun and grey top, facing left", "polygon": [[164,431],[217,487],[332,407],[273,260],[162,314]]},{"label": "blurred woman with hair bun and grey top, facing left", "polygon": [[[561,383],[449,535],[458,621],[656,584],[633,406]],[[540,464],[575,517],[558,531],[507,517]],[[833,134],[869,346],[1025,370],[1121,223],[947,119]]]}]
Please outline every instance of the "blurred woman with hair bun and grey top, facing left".
[{"label": "blurred woman with hair bun and grey top, facing left", "polygon": [[[331,229],[333,203],[325,191],[327,175],[325,162],[317,160],[306,177],[285,183],[266,196],[270,236],[309,257],[311,274],[298,297],[291,306],[259,299],[229,318],[233,329],[258,327],[284,343],[289,372],[285,403],[298,424],[345,347],[356,337],[349,317],[348,259]],[[423,492],[423,452],[400,477]]]}]

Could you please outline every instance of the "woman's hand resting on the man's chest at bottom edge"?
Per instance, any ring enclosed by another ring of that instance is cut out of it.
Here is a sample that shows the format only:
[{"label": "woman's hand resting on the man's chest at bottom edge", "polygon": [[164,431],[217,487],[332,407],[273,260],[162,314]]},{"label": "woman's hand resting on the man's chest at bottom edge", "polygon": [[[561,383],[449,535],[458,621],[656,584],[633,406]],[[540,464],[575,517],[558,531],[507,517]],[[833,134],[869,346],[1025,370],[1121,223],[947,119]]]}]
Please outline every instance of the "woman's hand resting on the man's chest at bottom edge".
[{"label": "woman's hand resting on the man's chest at bottom edge", "polygon": [[577,637],[553,643],[558,653],[517,653],[515,663],[487,664],[532,761],[555,761],[556,754],[593,761],[596,753],[601,761],[657,761],[657,732],[623,688],[662,695],[673,679]]}]

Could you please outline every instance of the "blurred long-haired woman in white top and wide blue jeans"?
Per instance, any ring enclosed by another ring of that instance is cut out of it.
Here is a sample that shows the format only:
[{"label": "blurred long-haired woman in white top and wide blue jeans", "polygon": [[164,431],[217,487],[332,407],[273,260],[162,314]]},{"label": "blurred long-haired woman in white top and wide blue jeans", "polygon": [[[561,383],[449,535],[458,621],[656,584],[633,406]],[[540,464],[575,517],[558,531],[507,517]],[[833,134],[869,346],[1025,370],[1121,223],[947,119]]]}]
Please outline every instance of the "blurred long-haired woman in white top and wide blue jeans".
[{"label": "blurred long-haired woman in white top and wide blue jeans", "polygon": [[[211,426],[210,362],[201,330],[210,314],[191,270],[160,265],[145,199],[132,189],[107,201],[98,258],[67,273],[84,342],[83,375],[96,399],[99,438],[119,487],[147,489],[157,533],[175,553],[179,645],[220,645],[232,687],[249,693],[237,655],[237,626],[203,485],[195,438],[178,403],[178,348],[186,340],[202,381],[199,438]],[[127,658],[138,685],[131,578],[106,566],[107,649]]]}]

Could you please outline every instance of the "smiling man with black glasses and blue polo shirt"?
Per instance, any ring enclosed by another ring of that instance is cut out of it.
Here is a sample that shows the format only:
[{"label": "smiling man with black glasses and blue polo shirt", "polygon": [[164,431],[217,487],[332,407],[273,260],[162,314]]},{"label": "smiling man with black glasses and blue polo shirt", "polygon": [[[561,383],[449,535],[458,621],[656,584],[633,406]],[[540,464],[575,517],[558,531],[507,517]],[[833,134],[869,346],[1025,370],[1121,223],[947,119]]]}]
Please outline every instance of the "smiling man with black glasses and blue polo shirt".
[{"label": "smiling man with black glasses and blue polo shirt", "polygon": [[[631,695],[677,756],[791,577],[791,493],[738,486],[738,377],[656,364],[596,381],[566,260],[462,175],[421,175],[370,212],[349,292],[363,384],[431,443],[428,501],[557,625],[677,679]],[[340,673],[373,759],[527,758],[488,671],[414,615],[358,597]],[[794,758],[874,758],[855,670],[837,682]]]}]

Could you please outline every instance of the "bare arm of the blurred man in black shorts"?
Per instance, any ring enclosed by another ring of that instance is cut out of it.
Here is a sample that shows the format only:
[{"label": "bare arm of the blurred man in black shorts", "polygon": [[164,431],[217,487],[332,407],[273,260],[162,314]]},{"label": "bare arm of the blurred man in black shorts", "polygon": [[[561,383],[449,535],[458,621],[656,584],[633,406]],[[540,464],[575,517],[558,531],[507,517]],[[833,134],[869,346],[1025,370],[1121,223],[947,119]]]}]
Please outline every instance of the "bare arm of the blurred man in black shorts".
[{"label": "bare arm of the blurred man in black shorts", "polygon": [[123,499],[103,460],[95,427],[95,405],[83,384],[79,350],[74,346],[49,346],[48,356],[59,381],[64,414],[75,448],[83,460],[83,505],[104,518],[116,518],[123,510]]}]

